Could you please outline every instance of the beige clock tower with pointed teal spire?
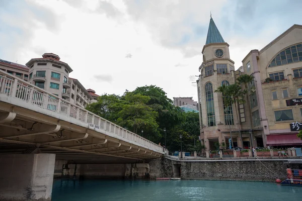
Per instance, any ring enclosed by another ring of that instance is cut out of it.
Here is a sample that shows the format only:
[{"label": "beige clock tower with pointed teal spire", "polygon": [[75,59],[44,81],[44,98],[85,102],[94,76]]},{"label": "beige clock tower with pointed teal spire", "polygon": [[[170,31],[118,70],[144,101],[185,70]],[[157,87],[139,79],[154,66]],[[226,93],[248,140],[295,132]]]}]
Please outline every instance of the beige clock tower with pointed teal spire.
[{"label": "beige clock tower with pointed teal spire", "polygon": [[224,142],[228,146],[232,130],[234,146],[239,145],[235,106],[224,107],[222,94],[214,92],[218,86],[235,83],[235,68],[229,44],[224,42],[212,17],[202,55],[197,80],[201,142],[207,150],[214,150],[215,143]]}]

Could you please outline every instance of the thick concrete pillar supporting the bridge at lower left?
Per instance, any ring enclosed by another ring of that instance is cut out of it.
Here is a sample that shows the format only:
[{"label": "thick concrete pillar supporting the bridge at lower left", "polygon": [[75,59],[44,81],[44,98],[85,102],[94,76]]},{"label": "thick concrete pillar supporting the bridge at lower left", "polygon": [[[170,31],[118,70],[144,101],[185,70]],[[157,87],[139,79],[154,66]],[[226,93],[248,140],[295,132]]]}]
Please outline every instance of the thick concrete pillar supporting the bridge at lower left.
[{"label": "thick concrete pillar supporting the bridge at lower left", "polygon": [[51,200],[55,154],[0,155],[0,200]]}]

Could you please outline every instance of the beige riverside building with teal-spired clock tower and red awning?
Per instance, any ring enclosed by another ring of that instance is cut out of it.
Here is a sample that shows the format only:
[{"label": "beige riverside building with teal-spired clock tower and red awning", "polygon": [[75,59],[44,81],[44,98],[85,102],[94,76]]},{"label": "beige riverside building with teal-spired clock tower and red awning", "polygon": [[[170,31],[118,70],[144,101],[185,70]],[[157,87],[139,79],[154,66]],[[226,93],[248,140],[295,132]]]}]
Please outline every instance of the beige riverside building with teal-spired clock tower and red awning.
[{"label": "beige riverside building with teal-spired clock tower and red awning", "polygon": [[[229,44],[211,18],[202,54],[197,92],[200,138],[207,149],[222,142],[231,147],[231,135],[234,147],[302,146],[296,136],[302,130],[302,26],[293,25],[260,51],[251,50],[235,71]],[[249,104],[225,107],[223,94],[214,91],[242,74],[254,76]]]}]

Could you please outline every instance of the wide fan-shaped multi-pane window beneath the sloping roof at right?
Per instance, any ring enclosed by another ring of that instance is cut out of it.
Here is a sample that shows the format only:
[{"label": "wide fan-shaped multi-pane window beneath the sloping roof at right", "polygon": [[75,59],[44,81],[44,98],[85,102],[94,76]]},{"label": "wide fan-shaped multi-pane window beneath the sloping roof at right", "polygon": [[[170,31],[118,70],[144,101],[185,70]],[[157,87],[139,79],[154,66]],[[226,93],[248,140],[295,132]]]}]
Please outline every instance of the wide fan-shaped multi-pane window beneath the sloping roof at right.
[{"label": "wide fan-shaped multi-pane window beneath the sloping roof at right", "polygon": [[302,43],[288,47],[277,54],[268,67],[302,61]]}]

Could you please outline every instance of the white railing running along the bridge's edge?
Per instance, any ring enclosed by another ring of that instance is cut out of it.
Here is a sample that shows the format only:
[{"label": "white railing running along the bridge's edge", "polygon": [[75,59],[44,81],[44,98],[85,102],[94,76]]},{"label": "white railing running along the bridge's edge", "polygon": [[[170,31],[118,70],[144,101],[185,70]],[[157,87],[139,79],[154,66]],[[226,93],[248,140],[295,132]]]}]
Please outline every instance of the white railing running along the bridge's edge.
[{"label": "white railing running along the bridge's edge", "polygon": [[27,81],[12,76],[3,70],[0,70],[0,93],[7,94],[13,98],[23,100],[28,104],[33,104],[43,109],[87,123],[90,128],[92,127],[92,130],[100,130],[99,132],[101,132],[101,130],[105,130],[116,136],[120,136],[142,146],[146,146],[150,150],[156,150],[160,153],[164,153],[162,146],[113,124],[112,122],[109,122],[83,108],[70,104],[66,100],[48,93],[42,88],[30,84]]}]

